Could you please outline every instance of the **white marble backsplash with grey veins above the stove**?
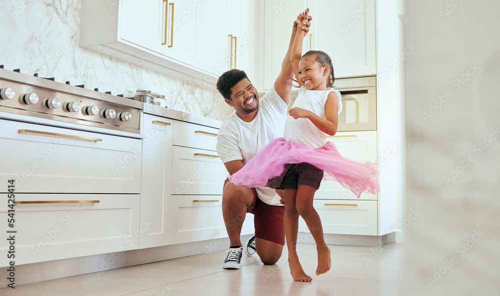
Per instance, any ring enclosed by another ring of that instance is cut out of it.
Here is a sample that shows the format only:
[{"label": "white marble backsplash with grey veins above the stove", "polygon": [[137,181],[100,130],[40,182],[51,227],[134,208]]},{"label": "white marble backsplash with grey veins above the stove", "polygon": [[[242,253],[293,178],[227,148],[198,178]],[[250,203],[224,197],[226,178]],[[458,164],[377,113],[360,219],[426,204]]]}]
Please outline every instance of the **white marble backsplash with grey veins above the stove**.
[{"label": "white marble backsplash with grey veins above the stove", "polygon": [[165,93],[168,108],[212,119],[233,111],[214,86],[203,88],[79,47],[79,21],[80,0],[1,0],[0,64],[125,97],[147,87]]}]

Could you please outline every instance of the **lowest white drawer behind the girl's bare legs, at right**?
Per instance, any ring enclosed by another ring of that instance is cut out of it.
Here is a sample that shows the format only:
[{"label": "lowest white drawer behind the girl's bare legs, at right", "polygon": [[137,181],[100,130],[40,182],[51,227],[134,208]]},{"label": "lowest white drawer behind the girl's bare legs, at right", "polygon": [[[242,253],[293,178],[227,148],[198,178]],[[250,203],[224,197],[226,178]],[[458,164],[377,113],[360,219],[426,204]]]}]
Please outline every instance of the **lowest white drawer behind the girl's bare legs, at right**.
[{"label": "lowest white drawer behind the girl's bare legs, at right", "polygon": [[323,233],[377,235],[376,201],[314,200]]}]

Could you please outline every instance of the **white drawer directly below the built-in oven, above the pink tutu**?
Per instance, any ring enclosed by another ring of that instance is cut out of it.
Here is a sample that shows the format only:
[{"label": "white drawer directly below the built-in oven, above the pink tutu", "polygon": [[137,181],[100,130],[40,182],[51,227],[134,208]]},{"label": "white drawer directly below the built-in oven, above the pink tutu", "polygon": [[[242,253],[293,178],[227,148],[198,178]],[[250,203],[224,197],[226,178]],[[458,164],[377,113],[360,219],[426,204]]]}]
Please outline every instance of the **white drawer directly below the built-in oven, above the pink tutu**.
[{"label": "white drawer directly below the built-in oven, above the pink tutu", "polygon": [[377,162],[376,131],[338,132],[326,138],[348,159]]}]

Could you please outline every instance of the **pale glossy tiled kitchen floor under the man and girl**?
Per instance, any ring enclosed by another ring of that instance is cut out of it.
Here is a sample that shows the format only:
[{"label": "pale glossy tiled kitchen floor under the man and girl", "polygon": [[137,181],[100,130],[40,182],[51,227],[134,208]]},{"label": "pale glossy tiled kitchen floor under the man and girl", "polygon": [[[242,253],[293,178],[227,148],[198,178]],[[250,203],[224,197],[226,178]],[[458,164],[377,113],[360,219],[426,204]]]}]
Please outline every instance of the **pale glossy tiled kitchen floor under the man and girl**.
[{"label": "pale glossy tiled kitchen floor under the man and girl", "polygon": [[5,296],[398,296],[402,290],[402,244],[386,247],[328,246],[332,268],[315,276],[315,245],[299,244],[311,283],[293,282],[287,252],[274,266],[243,256],[240,270],[221,268],[224,251],[68,277],[0,290]]}]

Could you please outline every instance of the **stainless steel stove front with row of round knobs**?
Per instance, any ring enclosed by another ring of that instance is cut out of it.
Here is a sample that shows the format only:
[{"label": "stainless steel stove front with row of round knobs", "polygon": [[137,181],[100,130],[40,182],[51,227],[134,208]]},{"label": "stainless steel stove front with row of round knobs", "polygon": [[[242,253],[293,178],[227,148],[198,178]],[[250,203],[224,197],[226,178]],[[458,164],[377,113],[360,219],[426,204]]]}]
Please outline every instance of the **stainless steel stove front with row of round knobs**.
[{"label": "stainless steel stove front with row of round knobs", "polygon": [[141,109],[141,102],[122,95],[22,74],[19,69],[9,71],[0,65],[0,112],[139,134]]}]

